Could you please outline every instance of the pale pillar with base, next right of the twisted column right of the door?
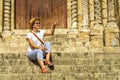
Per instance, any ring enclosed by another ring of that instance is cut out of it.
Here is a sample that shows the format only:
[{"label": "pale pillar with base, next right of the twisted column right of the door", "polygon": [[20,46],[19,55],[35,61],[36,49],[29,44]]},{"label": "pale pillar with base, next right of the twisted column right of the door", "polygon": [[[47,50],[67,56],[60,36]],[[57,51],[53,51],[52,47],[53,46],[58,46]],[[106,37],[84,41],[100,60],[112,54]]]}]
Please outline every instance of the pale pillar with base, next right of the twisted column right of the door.
[{"label": "pale pillar with base, next right of the twisted column right of the door", "polygon": [[88,0],[78,0],[78,29],[77,37],[84,43],[83,46],[89,46],[89,17],[88,17]]}]

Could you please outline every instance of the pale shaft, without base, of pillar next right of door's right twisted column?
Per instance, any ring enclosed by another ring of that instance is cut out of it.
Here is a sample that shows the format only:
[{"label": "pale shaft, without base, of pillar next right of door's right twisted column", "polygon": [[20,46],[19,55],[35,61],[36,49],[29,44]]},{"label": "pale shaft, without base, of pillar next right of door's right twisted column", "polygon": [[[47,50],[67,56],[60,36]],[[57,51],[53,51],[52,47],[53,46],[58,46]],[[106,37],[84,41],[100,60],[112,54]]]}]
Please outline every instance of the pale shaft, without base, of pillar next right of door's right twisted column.
[{"label": "pale shaft, without base, of pillar next right of door's right twisted column", "polygon": [[89,26],[89,17],[88,17],[89,4],[88,3],[89,3],[88,0],[82,0],[83,21],[82,21],[81,31],[83,32],[88,31],[88,26]]}]

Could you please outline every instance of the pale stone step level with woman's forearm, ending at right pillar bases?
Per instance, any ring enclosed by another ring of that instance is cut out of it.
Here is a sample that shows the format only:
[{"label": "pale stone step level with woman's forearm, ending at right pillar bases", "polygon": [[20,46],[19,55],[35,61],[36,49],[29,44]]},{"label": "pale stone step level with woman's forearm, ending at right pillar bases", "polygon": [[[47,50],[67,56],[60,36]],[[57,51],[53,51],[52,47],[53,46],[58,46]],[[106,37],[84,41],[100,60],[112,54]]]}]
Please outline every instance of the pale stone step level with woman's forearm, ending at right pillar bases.
[{"label": "pale stone step level with woman's forearm, ending at right pillar bases", "polygon": [[[83,46],[83,43],[80,40],[77,40],[77,39],[51,40],[50,42],[51,42],[51,46],[52,45],[65,46],[65,47],[68,47],[68,46]],[[4,44],[4,46],[9,46],[9,47],[28,46],[28,42],[26,40],[11,40],[11,41],[1,42],[0,44]]]}]

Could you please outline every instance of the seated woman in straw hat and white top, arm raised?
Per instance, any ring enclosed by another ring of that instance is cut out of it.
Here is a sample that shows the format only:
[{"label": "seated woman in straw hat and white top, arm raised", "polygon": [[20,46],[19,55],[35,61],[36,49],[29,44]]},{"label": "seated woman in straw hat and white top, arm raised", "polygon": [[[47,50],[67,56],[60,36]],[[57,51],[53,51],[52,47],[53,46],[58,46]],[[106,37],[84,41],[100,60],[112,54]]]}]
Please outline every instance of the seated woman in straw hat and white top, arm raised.
[{"label": "seated woman in straw hat and white top, arm raised", "polygon": [[[48,66],[53,65],[50,62],[50,42],[45,43],[43,41],[43,37],[53,35],[56,25],[57,25],[57,23],[55,23],[52,26],[52,28],[49,32],[46,32],[45,30],[39,30],[40,18],[32,18],[30,20],[30,27],[32,30],[27,34],[27,41],[29,43],[27,56],[31,60],[37,59],[39,65],[41,67],[41,71],[43,73],[48,72],[47,69],[45,68],[45,65],[43,62],[44,55],[46,55],[45,64]],[[37,35],[43,42],[39,41],[38,38],[34,34]]]}]

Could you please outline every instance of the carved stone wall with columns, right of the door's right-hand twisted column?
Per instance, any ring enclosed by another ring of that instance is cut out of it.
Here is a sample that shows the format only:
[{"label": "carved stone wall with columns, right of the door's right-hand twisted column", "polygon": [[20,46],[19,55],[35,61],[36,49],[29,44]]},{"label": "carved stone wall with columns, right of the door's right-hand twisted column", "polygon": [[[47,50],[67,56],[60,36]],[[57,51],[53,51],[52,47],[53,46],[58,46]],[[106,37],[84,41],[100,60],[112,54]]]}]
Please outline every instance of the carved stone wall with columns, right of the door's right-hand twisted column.
[{"label": "carved stone wall with columns, right of the door's right-hand twisted column", "polygon": [[87,36],[90,46],[120,45],[118,0],[78,0],[78,5],[80,38]]}]

